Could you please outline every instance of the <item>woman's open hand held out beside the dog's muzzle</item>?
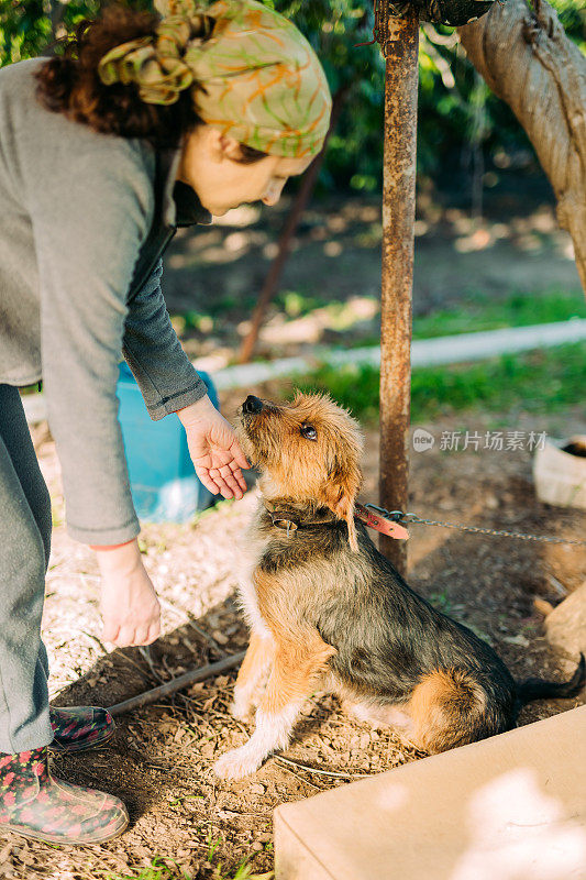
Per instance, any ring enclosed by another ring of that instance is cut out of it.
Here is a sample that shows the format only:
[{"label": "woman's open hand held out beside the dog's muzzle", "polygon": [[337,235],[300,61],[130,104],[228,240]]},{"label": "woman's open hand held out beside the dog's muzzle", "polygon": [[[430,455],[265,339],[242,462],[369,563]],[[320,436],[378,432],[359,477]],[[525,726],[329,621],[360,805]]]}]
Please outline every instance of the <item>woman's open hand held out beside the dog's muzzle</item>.
[{"label": "woman's open hand held out beside the dog's muzzle", "polygon": [[242,498],[246,483],[241,468],[250,468],[250,464],[230,422],[208,396],[177,415],[186,430],[194,468],[206,488],[224,498]]}]

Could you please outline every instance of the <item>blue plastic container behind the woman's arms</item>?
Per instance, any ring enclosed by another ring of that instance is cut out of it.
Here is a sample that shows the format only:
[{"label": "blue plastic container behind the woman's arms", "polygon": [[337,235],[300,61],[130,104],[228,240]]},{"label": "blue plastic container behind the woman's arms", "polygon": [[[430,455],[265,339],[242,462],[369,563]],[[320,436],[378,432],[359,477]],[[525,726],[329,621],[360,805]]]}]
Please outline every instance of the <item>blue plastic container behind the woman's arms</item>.
[{"label": "blue plastic container behind the woman's arms", "polygon": [[[218,395],[207,373],[199,373],[217,407]],[[198,479],[185,429],[175,414],[153,421],[136,380],[120,364],[117,386],[119,420],[129,465],[132,499],[140,519],[148,522],[186,522],[218,497]]]}]

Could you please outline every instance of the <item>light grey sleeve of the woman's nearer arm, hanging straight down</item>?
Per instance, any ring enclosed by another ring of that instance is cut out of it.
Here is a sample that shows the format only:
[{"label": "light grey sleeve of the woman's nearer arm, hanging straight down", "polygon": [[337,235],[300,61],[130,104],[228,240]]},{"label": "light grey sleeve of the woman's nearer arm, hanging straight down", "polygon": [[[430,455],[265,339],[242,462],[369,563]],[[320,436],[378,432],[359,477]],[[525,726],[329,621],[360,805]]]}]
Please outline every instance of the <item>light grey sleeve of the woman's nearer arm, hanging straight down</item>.
[{"label": "light grey sleeve of the woman's nearer arm, hanging straight down", "polygon": [[117,381],[126,295],[153,218],[154,168],[142,147],[92,138],[95,148],[74,161],[55,155],[54,176],[31,193],[31,217],[43,383],[67,528],[84,543],[117,544],[140,531]]}]

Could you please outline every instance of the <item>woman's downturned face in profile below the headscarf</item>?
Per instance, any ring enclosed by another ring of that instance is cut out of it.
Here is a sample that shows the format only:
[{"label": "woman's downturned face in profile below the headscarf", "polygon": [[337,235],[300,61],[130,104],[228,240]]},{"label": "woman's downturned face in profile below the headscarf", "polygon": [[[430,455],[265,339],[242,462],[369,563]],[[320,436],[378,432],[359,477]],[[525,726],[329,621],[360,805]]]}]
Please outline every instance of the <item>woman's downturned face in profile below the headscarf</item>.
[{"label": "woman's downturned face in profile below the headscarf", "polygon": [[186,140],[177,179],[197,193],[202,206],[215,217],[250,201],[276,205],[289,177],[302,174],[312,156],[266,156],[239,162],[240,144],[212,125],[200,125]]}]

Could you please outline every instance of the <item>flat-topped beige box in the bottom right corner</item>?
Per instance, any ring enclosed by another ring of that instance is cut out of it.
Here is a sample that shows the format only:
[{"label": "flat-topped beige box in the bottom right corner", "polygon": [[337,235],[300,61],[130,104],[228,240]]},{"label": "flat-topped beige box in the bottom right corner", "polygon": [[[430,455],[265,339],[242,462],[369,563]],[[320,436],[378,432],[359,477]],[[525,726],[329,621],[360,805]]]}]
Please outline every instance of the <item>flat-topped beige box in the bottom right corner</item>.
[{"label": "flat-topped beige box in the bottom right corner", "polygon": [[586,880],[586,706],[275,811],[276,880]]}]

